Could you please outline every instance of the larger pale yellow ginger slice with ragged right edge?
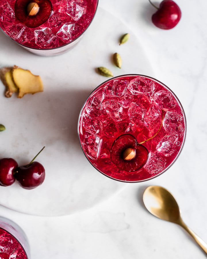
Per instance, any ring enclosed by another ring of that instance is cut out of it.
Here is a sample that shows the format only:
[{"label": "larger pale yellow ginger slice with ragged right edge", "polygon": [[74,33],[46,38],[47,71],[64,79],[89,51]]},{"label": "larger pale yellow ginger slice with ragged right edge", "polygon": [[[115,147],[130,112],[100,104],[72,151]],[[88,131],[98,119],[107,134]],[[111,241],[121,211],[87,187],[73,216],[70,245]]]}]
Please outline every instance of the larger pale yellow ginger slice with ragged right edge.
[{"label": "larger pale yellow ginger slice with ragged right edge", "polygon": [[40,76],[33,75],[29,70],[14,68],[11,71],[12,78],[18,88],[18,98],[25,94],[43,92],[43,83]]}]

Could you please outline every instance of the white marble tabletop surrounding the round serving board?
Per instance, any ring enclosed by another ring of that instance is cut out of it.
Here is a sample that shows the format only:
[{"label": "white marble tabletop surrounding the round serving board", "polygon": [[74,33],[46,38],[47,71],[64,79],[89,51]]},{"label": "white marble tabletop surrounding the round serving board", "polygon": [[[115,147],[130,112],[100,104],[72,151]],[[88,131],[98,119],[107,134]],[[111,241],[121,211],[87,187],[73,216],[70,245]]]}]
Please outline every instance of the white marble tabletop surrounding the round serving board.
[{"label": "white marble tabletop surrounding the round serving board", "polygon": [[[183,14],[181,22],[173,30],[162,31],[150,22],[154,9],[147,0],[99,0],[100,7],[134,31],[156,78],[168,85],[183,104],[187,138],[179,159],[158,178],[127,184],[107,201],[70,216],[29,216],[1,207],[1,215],[26,232],[32,259],[206,258],[187,233],[149,214],[141,201],[148,185],[168,188],[181,207],[185,223],[207,242],[207,3],[177,3]],[[93,31],[88,33],[95,35]]]}]

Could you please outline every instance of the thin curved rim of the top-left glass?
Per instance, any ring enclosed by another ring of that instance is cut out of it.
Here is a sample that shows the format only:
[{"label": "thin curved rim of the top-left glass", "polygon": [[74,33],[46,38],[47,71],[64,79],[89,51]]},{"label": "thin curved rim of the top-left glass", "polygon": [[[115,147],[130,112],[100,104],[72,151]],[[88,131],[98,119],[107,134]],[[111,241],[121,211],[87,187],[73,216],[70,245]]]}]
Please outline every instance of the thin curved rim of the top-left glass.
[{"label": "thin curved rim of the top-left glass", "polygon": [[17,42],[15,39],[11,38],[7,33],[5,33],[5,31],[3,31],[3,29],[1,28],[1,26],[0,26],[0,29],[1,29],[1,31],[2,31],[7,37],[9,37],[9,39],[11,39],[12,41],[14,41],[15,43],[17,43],[17,44],[20,45],[21,47],[28,48],[28,49],[34,49],[34,50],[40,50],[40,51],[41,51],[41,50],[44,51],[44,50],[60,49],[60,48],[62,48],[62,47],[65,47],[65,46],[67,46],[67,45],[73,43],[74,41],[76,41],[77,39],[79,39],[81,36],[83,36],[83,34],[84,34],[84,33],[86,32],[86,30],[89,28],[89,26],[91,25],[91,23],[92,23],[92,21],[93,21],[93,19],[94,19],[94,17],[95,17],[95,14],[96,14],[97,9],[98,9],[98,3],[99,3],[99,0],[96,0],[95,13],[94,13],[94,15],[93,15],[93,18],[92,18],[91,22],[90,22],[89,25],[87,26],[87,28],[85,28],[85,30],[84,30],[78,37],[76,37],[76,38],[73,39],[72,41],[70,41],[70,42],[68,42],[68,43],[66,43],[66,44],[64,44],[64,45],[61,45],[61,46],[59,46],[59,47],[45,48],[45,49],[34,48],[34,47],[28,47],[28,46],[26,46],[26,45],[24,45],[24,44],[22,44],[22,43]]}]

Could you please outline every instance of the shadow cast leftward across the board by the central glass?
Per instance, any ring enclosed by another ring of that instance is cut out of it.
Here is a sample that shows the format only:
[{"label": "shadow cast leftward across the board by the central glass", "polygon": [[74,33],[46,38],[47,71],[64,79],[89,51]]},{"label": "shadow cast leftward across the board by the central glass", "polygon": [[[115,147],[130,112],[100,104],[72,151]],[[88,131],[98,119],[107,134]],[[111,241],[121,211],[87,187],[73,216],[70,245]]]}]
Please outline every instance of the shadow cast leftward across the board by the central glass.
[{"label": "shadow cast leftward across the board by the central glass", "polygon": [[[14,118],[12,126],[6,123],[7,131],[15,132],[11,134],[12,149],[20,150],[23,145],[27,147],[38,143],[39,146],[58,148],[60,154],[71,152],[73,148],[74,152],[82,155],[78,118],[91,90],[71,87],[73,89],[63,90],[60,87],[61,90],[58,90],[57,86],[50,91],[45,86],[41,93],[26,94],[21,99],[16,98],[16,94],[8,100],[5,98],[9,104],[9,114]],[[26,154],[18,157],[20,163],[25,163],[26,157]]]}]

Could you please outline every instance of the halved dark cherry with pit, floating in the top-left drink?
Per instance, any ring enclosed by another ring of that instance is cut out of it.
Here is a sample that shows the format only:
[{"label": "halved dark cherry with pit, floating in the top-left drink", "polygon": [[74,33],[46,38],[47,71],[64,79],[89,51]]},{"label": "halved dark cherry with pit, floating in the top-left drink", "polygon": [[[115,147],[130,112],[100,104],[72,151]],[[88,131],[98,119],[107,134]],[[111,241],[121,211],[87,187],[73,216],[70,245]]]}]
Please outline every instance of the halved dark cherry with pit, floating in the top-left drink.
[{"label": "halved dark cherry with pit, floating in the top-left drink", "polygon": [[16,18],[27,27],[35,28],[47,21],[52,12],[49,0],[16,0]]}]

